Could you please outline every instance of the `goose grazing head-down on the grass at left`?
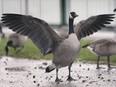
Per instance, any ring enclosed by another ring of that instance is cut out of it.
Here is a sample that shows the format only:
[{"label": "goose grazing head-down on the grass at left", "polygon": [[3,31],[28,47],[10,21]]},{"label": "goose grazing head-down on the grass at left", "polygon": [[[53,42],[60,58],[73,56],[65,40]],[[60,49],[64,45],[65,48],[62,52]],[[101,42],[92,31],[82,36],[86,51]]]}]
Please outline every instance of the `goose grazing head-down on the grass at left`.
[{"label": "goose grazing head-down on the grass at left", "polygon": [[[24,47],[24,43],[25,43],[25,37],[23,35],[17,34],[17,33],[13,33],[9,36],[8,41],[6,43],[5,46],[5,51],[6,51],[6,55],[8,55],[9,53],[9,47],[13,47],[14,50],[16,50],[16,48],[23,48]],[[16,53],[20,52],[21,49],[17,50]]]}]

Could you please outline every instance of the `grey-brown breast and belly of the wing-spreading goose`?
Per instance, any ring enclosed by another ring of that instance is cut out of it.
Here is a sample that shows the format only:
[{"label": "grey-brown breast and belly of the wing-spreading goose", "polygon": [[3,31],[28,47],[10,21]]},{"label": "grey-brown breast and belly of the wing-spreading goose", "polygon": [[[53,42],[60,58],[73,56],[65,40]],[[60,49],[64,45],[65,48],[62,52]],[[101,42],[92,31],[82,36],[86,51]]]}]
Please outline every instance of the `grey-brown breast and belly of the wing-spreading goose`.
[{"label": "grey-brown breast and belly of the wing-spreading goose", "polygon": [[[61,68],[70,65],[79,53],[80,43],[75,34],[70,34],[53,52],[53,63]],[[68,59],[68,60],[67,60]]]}]

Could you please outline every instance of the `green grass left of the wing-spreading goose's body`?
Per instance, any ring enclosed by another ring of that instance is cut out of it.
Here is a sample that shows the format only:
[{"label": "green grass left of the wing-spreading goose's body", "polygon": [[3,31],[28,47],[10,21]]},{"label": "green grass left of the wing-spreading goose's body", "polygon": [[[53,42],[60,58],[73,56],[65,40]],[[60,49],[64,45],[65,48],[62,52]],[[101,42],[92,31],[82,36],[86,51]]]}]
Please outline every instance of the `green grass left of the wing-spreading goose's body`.
[{"label": "green grass left of the wing-spreading goose's body", "polygon": [[[7,38],[4,38],[1,40],[1,43],[0,43],[0,55],[1,56],[5,56],[4,48],[5,48],[6,42],[7,42]],[[30,59],[38,59],[38,58],[51,59],[52,58],[52,54],[43,56],[30,39],[27,39],[24,48],[19,53],[16,54],[14,48],[12,47],[9,47],[9,50],[10,50],[9,56],[11,57],[30,58]]]}]

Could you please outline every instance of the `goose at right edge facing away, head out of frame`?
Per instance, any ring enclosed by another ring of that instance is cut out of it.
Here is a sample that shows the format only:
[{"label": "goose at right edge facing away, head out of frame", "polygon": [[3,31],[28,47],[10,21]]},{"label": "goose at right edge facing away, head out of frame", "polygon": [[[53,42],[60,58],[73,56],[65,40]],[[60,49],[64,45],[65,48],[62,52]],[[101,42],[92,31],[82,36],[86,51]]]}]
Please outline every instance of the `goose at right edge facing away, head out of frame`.
[{"label": "goose at right edge facing away, head out of frame", "polygon": [[98,56],[97,69],[99,69],[100,56],[107,56],[108,68],[110,68],[110,56],[116,55],[116,42],[112,39],[100,39],[82,46]]}]

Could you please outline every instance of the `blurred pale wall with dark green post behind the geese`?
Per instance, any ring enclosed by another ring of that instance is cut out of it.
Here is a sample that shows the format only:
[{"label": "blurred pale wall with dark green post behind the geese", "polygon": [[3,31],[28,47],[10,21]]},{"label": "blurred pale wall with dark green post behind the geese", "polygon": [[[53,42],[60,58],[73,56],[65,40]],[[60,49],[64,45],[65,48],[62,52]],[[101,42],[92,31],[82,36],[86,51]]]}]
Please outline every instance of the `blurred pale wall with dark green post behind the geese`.
[{"label": "blurred pale wall with dark green post behind the geese", "polygon": [[[0,16],[3,13],[32,15],[51,25],[67,25],[70,11],[79,17],[75,23],[92,15],[113,13],[116,0],[0,0]],[[112,23],[115,25],[116,21]]]}]

